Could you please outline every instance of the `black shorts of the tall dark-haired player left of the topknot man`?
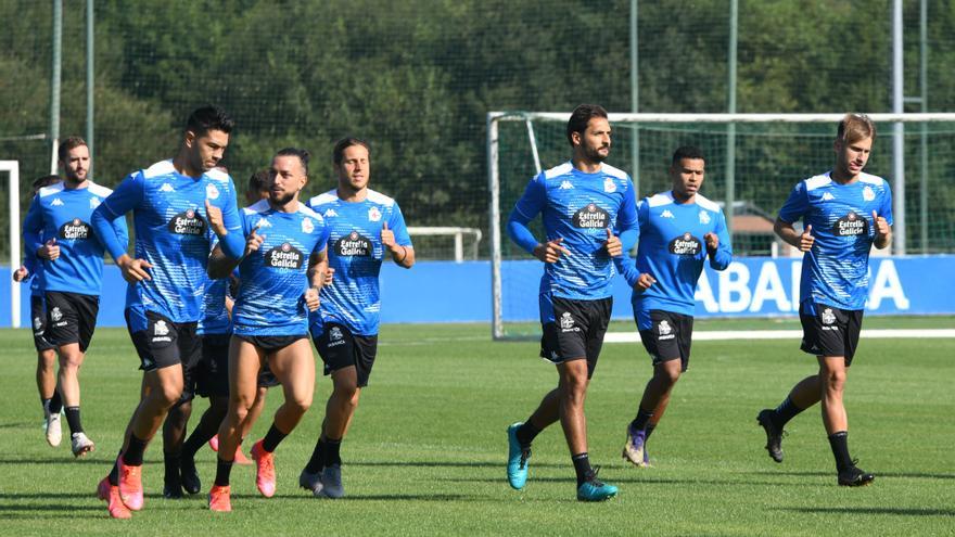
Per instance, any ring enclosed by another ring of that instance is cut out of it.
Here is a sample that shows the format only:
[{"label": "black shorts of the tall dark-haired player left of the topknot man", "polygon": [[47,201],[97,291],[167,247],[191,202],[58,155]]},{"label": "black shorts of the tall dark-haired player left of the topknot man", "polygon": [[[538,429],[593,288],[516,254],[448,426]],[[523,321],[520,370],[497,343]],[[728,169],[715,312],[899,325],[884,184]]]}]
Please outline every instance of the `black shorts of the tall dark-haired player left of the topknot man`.
[{"label": "black shorts of the tall dark-haired player left of the topknot man", "polygon": [[139,355],[139,369],[144,372],[182,365],[182,398],[195,396],[196,373],[202,361],[202,340],[195,322],[173,322],[161,314],[147,311],[147,329],[132,331],[130,310],[126,309],[126,327]]}]

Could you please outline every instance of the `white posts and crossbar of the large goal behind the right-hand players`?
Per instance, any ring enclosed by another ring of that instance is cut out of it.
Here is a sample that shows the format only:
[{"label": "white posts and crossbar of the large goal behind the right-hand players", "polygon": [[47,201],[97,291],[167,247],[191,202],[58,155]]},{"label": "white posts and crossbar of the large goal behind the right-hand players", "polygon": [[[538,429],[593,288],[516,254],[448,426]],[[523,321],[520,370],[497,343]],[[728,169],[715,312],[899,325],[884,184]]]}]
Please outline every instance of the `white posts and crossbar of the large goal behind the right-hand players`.
[{"label": "white posts and crossbar of the large goal behind the right-hand players", "polygon": [[[487,187],[491,193],[489,227],[491,232],[491,289],[493,296],[492,336],[495,340],[506,338],[501,312],[501,232],[500,232],[500,168],[498,126],[500,122],[522,122],[527,126],[531,141],[531,158],[537,172],[540,172],[540,157],[532,122],[546,119],[566,122],[570,112],[489,112],[487,114]],[[845,114],[627,114],[610,113],[611,123],[640,124],[741,124],[741,123],[827,123],[837,124]],[[893,123],[893,207],[896,236],[905,236],[905,172],[903,157],[903,135],[905,123],[947,122],[955,123],[955,113],[920,113],[920,114],[868,114],[876,123]],[[897,244],[896,252],[905,253],[904,239]]]}]

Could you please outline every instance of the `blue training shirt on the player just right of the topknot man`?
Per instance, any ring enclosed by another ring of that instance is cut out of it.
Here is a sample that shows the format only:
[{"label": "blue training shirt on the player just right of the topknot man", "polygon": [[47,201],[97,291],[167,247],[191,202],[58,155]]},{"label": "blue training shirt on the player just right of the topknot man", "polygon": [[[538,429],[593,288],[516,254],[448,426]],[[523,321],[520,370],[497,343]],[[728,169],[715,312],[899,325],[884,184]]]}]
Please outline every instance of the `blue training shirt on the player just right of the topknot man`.
[{"label": "blue training shirt on the player just right of the topknot man", "polygon": [[368,190],[360,202],[346,202],[335,190],[308,201],[329,227],[329,267],[335,269],[332,284],[321,289],[321,307],[310,316],[311,333],[318,335],[327,322],[336,322],[355,335],[378,334],[381,295],[378,277],[385,256],[381,242],[385,223],[395,242],[412,248],[405,217],[393,199]]}]

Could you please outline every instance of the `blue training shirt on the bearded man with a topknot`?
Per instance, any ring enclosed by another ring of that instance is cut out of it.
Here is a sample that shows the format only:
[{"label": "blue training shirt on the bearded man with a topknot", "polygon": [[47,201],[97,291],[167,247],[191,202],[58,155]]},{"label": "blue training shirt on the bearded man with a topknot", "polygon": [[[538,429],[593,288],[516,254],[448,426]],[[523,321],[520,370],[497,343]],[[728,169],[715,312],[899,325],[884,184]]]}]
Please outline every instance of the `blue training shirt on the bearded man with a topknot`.
[{"label": "blue training shirt on the bearded man with a topknot", "polygon": [[242,209],[245,236],[258,228],[258,251],[239,264],[239,293],[232,307],[237,335],[300,335],[308,333],[305,291],[308,259],[328,242],[324,219],[298,203],[294,213],[271,208],[262,200]]}]

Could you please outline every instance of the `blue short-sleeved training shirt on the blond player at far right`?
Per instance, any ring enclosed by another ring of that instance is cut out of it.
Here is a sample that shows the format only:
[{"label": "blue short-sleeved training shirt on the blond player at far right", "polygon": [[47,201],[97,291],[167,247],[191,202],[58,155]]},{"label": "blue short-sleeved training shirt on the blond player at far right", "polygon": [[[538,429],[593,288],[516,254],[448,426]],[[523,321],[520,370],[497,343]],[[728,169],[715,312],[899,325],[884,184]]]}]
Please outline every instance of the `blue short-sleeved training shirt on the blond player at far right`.
[{"label": "blue short-sleeved training shirt on the blond player at far right", "polygon": [[873,210],[892,225],[892,192],[881,177],[860,174],[840,184],[831,171],[792,189],[779,219],[812,226],[813,247],[802,261],[799,302],[813,314],[816,304],[863,309],[868,297],[869,252],[876,239]]}]

